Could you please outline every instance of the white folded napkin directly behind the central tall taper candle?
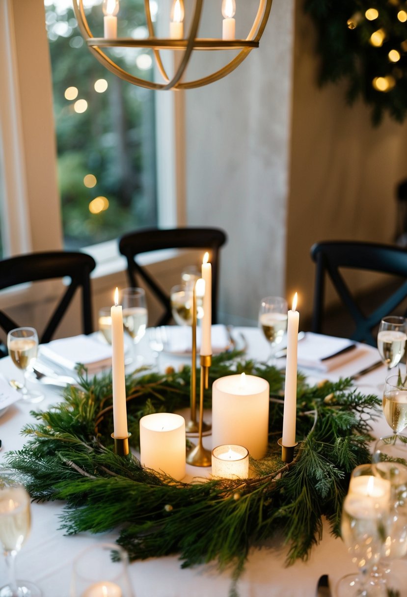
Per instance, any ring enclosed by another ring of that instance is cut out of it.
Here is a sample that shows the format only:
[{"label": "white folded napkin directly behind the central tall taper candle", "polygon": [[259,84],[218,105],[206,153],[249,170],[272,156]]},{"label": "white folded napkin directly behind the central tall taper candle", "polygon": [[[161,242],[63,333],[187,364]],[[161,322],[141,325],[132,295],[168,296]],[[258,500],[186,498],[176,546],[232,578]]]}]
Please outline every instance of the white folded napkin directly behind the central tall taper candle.
[{"label": "white folded napkin directly behind the central tall taper candle", "polygon": [[[196,350],[201,347],[201,328],[196,329]],[[188,354],[192,352],[192,328],[189,325],[166,325],[166,341],[164,350],[173,354]],[[230,337],[226,327],[222,324],[212,325],[211,329],[212,353],[223,352],[230,346]]]}]

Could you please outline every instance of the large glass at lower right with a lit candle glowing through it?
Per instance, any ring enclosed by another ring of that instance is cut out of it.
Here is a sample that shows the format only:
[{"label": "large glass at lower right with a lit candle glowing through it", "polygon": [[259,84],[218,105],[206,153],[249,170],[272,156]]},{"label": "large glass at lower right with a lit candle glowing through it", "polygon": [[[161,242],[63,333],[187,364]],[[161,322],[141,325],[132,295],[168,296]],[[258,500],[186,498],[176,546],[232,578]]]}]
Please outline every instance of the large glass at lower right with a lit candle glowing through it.
[{"label": "large glass at lower right with a lit candle glowing through it", "polygon": [[347,574],[340,579],[336,587],[337,597],[386,597],[386,583],[375,575],[374,570],[382,555],[387,512],[386,504],[373,495],[350,491],[346,496],[341,535],[359,573]]}]

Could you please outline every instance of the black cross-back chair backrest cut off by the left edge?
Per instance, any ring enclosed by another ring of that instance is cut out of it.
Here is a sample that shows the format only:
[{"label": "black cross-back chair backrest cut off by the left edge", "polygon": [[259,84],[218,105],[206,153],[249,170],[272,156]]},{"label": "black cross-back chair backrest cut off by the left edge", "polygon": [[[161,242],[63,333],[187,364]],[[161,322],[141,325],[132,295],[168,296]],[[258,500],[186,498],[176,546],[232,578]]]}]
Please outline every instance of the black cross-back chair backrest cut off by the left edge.
[{"label": "black cross-back chair backrest cut off by the left edge", "polygon": [[[17,284],[70,278],[70,284],[48,320],[40,343],[49,342],[64,316],[76,290],[82,289],[82,329],[85,334],[93,331],[90,273],[96,264],[90,255],[69,251],[29,253],[0,261],[0,290]],[[19,327],[8,315],[0,311],[0,327],[8,333]]]}]

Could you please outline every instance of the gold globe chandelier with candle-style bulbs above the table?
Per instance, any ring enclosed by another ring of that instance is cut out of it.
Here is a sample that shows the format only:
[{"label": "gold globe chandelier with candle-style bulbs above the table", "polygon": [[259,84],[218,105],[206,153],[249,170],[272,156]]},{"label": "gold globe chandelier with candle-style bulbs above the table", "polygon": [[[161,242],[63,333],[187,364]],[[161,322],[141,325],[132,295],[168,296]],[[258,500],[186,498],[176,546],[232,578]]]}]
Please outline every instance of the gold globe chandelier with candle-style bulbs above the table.
[{"label": "gold globe chandelier with candle-style bulbs above the table", "polygon": [[[258,48],[259,41],[263,35],[269,18],[270,9],[273,0],[259,0],[257,14],[248,35],[245,39],[235,38],[235,10],[236,0],[217,0],[223,15],[223,35],[222,39],[199,38],[198,29],[203,9],[203,0],[195,0],[195,8],[190,19],[189,32],[184,36],[184,0],[172,0],[171,16],[169,21],[169,37],[158,38],[155,36],[152,14],[150,11],[150,1],[144,0],[144,11],[146,14],[146,23],[149,37],[144,39],[118,38],[117,24],[119,13],[119,0],[103,0],[103,21],[104,36],[94,37],[92,35],[84,9],[84,0],[73,0],[73,10],[82,36],[88,45],[91,53],[99,60],[103,66],[120,78],[153,90],[169,89],[192,89],[202,87],[214,81],[218,81],[232,70],[248,56],[253,48]],[[214,0],[211,0],[214,2]],[[247,0],[243,0],[247,2]],[[110,56],[107,56],[105,48],[146,48],[152,50],[155,58],[156,69],[162,77],[162,82],[153,82],[147,79],[141,79],[122,69],[115,63]],[[168,76],[167,69],[162,60],[161,50],[178,51],[180,59],[174,69],[174,74]],[[195,50],[236,50],[238,53],[226,65],[211,73],[192,81],[185,81],[184,75]]]}]

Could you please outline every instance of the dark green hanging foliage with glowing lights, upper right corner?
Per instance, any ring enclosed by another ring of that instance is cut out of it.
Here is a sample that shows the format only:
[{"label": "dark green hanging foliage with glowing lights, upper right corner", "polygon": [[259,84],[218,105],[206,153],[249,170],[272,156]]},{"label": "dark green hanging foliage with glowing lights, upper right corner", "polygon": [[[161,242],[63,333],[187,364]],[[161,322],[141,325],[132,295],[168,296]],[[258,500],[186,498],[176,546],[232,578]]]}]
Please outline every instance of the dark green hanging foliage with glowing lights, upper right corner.
[{"label": "dark green hanging foliage with glowing lights, upper right corner", "polygon": [[372,122],[387,112],[407,113],[407,2],[405,0],[305,0],[317,26],[319,83],[347,79],[349,103],[361,97]]}]

